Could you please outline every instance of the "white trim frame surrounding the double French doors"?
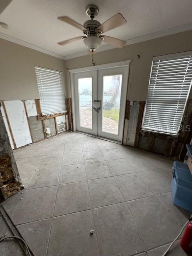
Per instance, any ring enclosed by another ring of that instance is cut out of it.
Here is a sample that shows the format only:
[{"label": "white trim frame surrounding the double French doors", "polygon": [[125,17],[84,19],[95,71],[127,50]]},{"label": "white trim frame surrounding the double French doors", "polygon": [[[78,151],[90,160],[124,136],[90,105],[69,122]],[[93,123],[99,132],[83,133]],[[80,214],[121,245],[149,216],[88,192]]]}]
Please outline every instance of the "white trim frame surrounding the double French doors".
[{"label": "white trim frame surrounding the double French doors", "polygon": [[[120,61],[120,62],[112,62],[112,63],[108,63],[108,64],[88,66],[88,67],[84,67],[84,68],[75,68],[75,69],[69,69],[68,70],[70,72],[70,88],[71,88],[74,132],[77,130],[74,74],[75,73],[80,73],[80,72],[93,71],[93,70],[108,69],[108,68],[127,67],[127,72],[128,72],[127,74],[128,74],[128,80],[129,80],[129,70],[130,70],[130,62],[131,61],[132,60],[124,60],[124,61]],[[127,90],[128,90],[128,85],[127,85]],[[126,92],[126,95],[127,95],[127,92]],[[124,110],[124,112],[125,112],[125,110]],[[123,135],[122,135],[122,139],[123,139]]]}]

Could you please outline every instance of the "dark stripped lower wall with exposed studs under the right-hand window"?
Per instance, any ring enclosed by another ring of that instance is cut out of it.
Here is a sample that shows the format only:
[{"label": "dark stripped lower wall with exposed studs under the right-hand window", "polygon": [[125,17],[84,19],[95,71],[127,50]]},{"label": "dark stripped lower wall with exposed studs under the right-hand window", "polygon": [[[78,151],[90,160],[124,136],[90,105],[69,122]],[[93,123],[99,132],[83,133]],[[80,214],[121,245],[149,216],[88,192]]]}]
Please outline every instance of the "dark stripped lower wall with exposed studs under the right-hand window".
[{"label": "dark stripped lower wall with exposed studs under the right-hand window", "polygon": [[[186,154],[186,144],[192,138],[192,100],[188,100],[182,121],[182,129],[178,136],[146,132],[141,130],[141,114],[144,102],[134,102],[129,108],[129,120],[126,122],[127,145],[135,146],[149,152],[171,156],[183,160]],[[140,119],[140,120],[139,120]],[[128,126],[128,127],[127,127]],[[137,134],[138,133],[138,134]],[[137,143],[134,143],[138,138]]]}]

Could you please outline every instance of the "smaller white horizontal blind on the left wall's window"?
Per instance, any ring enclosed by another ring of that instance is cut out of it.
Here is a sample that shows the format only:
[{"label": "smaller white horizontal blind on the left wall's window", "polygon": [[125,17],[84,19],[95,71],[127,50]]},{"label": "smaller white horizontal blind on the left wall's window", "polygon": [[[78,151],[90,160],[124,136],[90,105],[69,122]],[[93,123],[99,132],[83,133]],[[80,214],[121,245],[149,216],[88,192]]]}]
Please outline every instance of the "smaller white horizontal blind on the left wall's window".
[{"label": "smaller white horizontal blind on the left wall's window", "polygon": [[43,115],[66,112],[63,73],[35,67]]}]

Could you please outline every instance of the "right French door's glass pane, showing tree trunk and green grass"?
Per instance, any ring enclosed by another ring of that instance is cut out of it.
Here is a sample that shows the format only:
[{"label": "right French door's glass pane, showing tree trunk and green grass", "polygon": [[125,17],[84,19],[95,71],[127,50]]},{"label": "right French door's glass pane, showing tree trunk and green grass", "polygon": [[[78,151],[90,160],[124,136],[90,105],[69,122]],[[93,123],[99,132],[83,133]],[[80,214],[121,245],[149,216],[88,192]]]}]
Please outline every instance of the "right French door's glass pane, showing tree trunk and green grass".
[{"label": "right French door's glass pane, showing tree trunk and green grass", "polygon": [[118,134],[122,75],[103,76],[102,131]]}]

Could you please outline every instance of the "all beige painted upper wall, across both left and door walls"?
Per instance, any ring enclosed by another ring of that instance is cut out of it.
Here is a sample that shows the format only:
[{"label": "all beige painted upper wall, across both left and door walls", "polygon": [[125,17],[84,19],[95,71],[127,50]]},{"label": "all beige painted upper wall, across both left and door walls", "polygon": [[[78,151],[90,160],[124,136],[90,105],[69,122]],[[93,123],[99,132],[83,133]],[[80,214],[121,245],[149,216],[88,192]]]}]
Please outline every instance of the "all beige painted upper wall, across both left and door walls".
[{"label": "all beige painted upper wall, across both left and door walls", "polygon": [[[192,30],[164,36],[122,49],[94,54],[96,65],[132,60],[130,66],[128,99],[145,101],[153,56],[192,50]],[[140,59],[138,58],[140,55]],[[62,60],[36,50],[0,39],[0,100],[27,100],[39,98],[34,66],[64,72],[66,96],[70,97],[69,69],[91,66],[91,56]],[[192,98],[192,91],[190,93]]]}]

